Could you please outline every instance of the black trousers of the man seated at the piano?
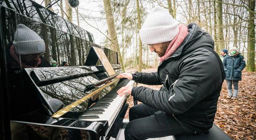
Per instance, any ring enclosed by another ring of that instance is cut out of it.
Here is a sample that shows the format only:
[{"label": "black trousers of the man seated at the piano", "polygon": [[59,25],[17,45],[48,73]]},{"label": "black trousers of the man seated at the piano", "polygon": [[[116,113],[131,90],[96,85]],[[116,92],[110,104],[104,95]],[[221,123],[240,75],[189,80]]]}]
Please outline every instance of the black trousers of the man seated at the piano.
[{"label": "black trousers of the man seated at the piano", "polygon": [[130,122],[125,128],[125,140],[145,140],[177,134],[194,134],[195,131],[178,122],[171,114],[145,104],[131,107]]}]

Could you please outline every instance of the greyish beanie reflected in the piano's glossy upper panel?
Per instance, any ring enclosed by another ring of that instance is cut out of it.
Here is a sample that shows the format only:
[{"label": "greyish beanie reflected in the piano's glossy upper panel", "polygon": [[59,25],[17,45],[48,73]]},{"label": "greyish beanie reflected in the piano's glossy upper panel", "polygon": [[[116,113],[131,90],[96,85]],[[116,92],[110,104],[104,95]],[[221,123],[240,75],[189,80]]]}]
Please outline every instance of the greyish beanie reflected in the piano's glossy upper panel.
[{"label": "greyish beanie reflected in the piano's glossy upper panel", "polygon": [[45,52],[44,40],[23,24],[18,24],[14,34],[13,45],[19,55],[37,54]]}]

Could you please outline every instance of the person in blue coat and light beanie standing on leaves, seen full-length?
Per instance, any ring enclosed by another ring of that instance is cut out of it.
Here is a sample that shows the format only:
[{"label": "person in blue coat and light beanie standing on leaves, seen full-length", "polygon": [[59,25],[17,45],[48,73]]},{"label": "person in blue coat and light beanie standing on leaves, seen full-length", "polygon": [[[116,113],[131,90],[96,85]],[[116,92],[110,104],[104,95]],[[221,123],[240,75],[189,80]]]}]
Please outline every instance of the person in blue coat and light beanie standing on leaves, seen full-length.
[{"label": "person in blue coat and light beanie standing on leaves, seen full-length", "polygon": [[[244,56],[242,56],[236,48],[232,48],[229,55],[224,57],[223,66],[227,80],[227,98],[236,99],[239,92],[238,82],[242,80],[242,70],[245,67]],[[234,94],[232,91],[232,83]]]}]

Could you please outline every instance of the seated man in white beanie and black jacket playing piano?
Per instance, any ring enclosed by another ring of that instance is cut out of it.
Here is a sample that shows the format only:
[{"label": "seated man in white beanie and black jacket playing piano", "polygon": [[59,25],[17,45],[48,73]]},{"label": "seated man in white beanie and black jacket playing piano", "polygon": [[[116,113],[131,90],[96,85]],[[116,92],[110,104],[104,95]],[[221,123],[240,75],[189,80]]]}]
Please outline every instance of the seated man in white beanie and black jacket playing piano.
[{"label": "seated man in white beanie and black jacket playing piano", "polygon": [[178,25],[168,11],[157,7],[148,14],[140,38],[160,57],[157,72],[117,77],[163,87],[158,91],[127,86],[117,91],[143,103],[131,107],[125,139],[207,133],[225,78],[212,37],[195,23]]}]

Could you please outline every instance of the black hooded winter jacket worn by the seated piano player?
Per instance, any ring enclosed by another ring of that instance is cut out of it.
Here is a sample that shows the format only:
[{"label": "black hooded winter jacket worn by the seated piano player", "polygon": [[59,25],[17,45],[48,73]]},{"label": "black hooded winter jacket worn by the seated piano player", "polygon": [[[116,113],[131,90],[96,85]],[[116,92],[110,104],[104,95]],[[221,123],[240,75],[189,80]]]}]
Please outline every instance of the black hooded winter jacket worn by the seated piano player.
[{"label": "black hooded winter jacket worn by the seated piano player", "polygon": [[196,24],[189,24],[188,31],[182,45],[158,66],[157,72],[133,74],[136,82],[163,84],[166,91],[133,87],[131,95],[204,132],[212,127],[225,73],[213,50],[212,37]]}]

